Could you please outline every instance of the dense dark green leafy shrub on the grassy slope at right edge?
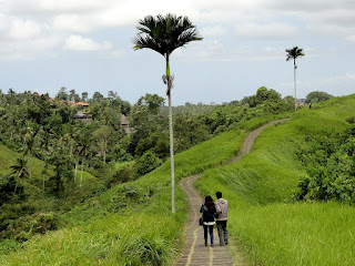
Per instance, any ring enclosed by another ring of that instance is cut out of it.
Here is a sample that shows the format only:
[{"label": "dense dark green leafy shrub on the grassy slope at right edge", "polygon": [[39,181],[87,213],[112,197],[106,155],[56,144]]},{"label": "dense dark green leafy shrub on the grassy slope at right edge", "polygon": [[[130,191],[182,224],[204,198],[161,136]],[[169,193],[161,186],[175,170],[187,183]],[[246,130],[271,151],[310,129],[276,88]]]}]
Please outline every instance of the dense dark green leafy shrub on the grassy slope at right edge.
[{"label": "dense dark green leafy shrub on the grassy slope at right edge", "polygon": [[354,132],[355,126],[351,126],[344,134],[308,139],[306,147],[297,152],[308,176],[301,178],[295,200],[355,204]]}]

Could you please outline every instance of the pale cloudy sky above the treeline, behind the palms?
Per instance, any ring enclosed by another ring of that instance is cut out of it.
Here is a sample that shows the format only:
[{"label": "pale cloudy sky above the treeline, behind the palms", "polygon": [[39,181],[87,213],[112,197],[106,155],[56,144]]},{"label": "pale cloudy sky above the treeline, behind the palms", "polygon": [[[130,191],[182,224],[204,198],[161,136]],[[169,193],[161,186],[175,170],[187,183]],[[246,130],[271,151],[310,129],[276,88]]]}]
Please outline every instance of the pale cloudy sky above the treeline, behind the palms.
[{"label": "pale cloudy sky above the treeline, behind the palms", "polygon": [[164,58],[134,51],[132,38],[140,19],[169,12],[203,37],[171,55],[173,105],[242,100],[260,86],[294,95],[293,47],[305,53],[298,99],[355,93],[354,0],[0,0],[0,89],[166,99]]}]

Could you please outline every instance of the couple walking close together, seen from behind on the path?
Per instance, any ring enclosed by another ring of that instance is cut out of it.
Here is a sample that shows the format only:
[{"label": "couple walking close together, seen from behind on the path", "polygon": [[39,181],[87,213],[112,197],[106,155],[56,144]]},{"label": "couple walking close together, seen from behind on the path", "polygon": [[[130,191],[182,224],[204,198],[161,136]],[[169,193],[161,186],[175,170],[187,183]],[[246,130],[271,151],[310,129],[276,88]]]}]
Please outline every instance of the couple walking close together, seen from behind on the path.
[{"label": "couple walking close together, seen from behind on the path", "polygon": [[[214,224],[217,226],[220,245],[224,246],[229,244],[229,233],[226,229],[227,222],[227,201],[222,198],[222,192],[216,192],[216,202],[207,195],[204,200],[204,204],[201,206],[200,213],[203,217],[203,233],[204,233],[204,245],[207,246],[209,233],[211,246],[213,246],[213,227]],[[216,222],[215,222],[216,219]]]}]

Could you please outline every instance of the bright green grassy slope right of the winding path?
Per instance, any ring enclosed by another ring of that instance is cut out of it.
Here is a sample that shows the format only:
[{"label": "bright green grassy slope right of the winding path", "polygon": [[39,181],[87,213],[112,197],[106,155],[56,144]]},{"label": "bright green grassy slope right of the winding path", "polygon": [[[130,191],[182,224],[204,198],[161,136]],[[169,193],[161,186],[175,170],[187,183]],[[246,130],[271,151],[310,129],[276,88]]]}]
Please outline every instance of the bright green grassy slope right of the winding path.
[{"label": "bright green grassy slope right of the winding path", "polygon": [[[260,265],[355,265],[354,208],[337,203],[292,204],[305,174],[294,151],[307,134],[343,131],[355,95],[304,109],[284,125],[265,130],[239,164],[207,171],[197,181],[230,202],[230,234]],[[287,203],[288,202],[288,203]]]}]

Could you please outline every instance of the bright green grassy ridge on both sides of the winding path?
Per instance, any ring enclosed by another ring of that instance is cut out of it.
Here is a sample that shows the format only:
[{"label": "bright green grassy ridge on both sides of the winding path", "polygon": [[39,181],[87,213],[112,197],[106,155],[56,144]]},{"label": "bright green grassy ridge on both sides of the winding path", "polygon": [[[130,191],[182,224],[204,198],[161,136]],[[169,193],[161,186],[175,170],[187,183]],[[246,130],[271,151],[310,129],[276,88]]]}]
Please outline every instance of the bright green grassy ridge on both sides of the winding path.
[{"label": "bright green grassy ridge on both sides of the winding path", "polygon": [[[248,132],[275,117],[252,120],[176,154],[176,183],[205,171],[196,185],[203,195],[222,191],[229,200],[230,234],[252,265],[354,265],[353,207],[292,197],[306,175],[296,152],[310,135],[343,132],[354,110],[355,95],[303,109],[291,121],[267,127],[240,163],[225,165]],[[183,246],[187,206],[178,187],[176,214],[171,214],[170,192],[166,161],[78,205],[61,217],[61,229],[31,238],[0,263],[171,265]]]}]

